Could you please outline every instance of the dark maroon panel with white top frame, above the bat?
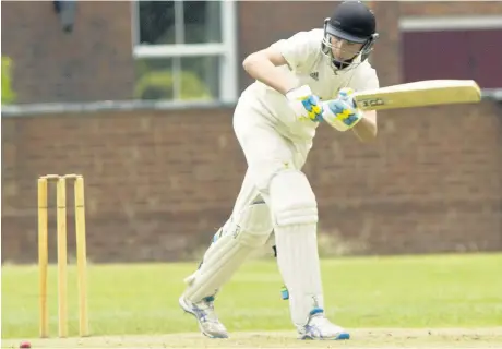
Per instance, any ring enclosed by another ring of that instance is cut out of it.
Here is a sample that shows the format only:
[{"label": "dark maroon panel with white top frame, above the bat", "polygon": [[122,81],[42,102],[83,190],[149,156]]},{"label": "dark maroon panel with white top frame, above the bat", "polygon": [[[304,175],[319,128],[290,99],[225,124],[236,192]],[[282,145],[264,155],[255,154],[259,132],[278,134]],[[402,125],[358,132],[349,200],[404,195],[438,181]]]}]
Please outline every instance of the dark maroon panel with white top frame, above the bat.
[{"label": "dark maroon panel with white top frame, above the bat", "polygon": [[408,17],[401,29],[406,82],[473,79],[502,87],[502,16]]}]

